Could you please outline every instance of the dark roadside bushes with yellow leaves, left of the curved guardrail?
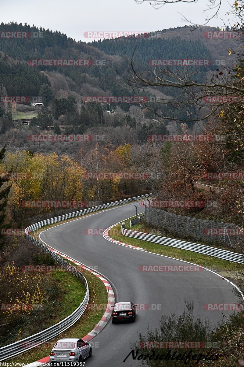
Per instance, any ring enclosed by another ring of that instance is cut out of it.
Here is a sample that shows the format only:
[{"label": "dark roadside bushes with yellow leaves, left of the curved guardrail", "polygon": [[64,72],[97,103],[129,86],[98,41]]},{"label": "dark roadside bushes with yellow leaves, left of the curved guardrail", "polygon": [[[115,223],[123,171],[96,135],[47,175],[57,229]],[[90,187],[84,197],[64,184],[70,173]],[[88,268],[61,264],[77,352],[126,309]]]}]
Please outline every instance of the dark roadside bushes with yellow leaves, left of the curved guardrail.
[{"label": "dark roadside bushes with yellow leaves, left of the curved guardrail", "polygon": [[7,236],[0,253],[0,346],[15,342],[19,334],[23,338],[28,328],[42,330],[55,319],[53,306],[58,308],[61,300],[59,281],[50,272],[23,268],[53,264],[49,255],[24,237]]}]

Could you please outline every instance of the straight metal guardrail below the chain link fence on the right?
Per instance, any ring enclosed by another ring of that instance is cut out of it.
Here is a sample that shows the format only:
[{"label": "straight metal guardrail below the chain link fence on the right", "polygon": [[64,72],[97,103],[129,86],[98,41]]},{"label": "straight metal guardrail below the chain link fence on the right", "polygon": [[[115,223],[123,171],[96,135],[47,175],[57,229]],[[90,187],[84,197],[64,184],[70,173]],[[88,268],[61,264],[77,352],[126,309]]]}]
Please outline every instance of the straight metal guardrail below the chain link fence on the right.
[{"label": "straight metal guardrail below the chain link fence on the right", "polygon": [[155,242],[165,246],[172,246],[177,248],[182,248],[184,250],[199,252],[200,254],[205,254],[219,259],[224,259],[228,261],[238,262],[239,264],[244,264],[244,255],[237,254],[235,252],[222,250],[220,248],[209,247],[200,245],[198,243],[186,242],[181,240],[175,240],[173,238],[161,237],[150,235],[149,233],[137,232],[131,229],[126,229],[125,224],[121,226],[121,232],[124,236],[137,238],[139,240]]}]

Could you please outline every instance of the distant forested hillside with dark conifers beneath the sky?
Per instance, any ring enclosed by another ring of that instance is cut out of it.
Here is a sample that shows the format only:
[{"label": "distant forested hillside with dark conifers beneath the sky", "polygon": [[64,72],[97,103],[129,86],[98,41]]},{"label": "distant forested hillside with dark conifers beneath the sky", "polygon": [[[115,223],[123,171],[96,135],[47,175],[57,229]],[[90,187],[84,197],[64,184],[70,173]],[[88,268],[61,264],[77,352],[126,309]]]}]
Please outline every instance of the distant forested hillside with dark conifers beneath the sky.
[{"label": "distant forested hillside with dark conifers beneath the sky", "polygon": [[[208,68],[216,69],[215,60],[223,60],[226,65],[234,62],[233,55],[228,56],[228,50],[239,47],[233,39],[209,39],[206,32],[218,31],[210,27],[192,30],[189,26],[176,29],[160,30],[149,34],[146,38],[119,38],[85,43],[69,38],[59,31],[36,28],[27,24],[1,23],[1,31],[12,29],[29,32],[28,34],[40,34],[40,37],[26,39],[0,38],[0,97],[1,96],[29,96],[44,99],[44,105],[48,108],[49,116],[44,115],[44,123],[40,119],[33,119],[32,127],[44,125],[65,126],[66,132],[82,133],[87,128],[104,126],[129,126],[134,128],[138,123],[149,126],[155,115],[174,114],[176,119],[188,122],[187,109],[174,109],[173,106],[161,105],[160,103],[84,103],[86,96],[133,96],[141,95],[152,101],[154,96],[172,98],[176,95],[176,88],[152,87],[132,89],[127,84],[127,69],[134,57],[135,68],[153,70],[150,65],[152,59],[201,59],[211,60],[212,65]],[[90,66],[32,66],[32,60],[89,60]],[[96,65],[97,64],[97,65]],[[182,75],[185,72],[197,73],[198,81],[203,81],[207,76],[207,68],[204,66],[186,66],[172,69],[180,69]],[[139,86],[138,86],[139,87]],[[68,99],[69,98],[69,99]],[[1,104],[2,112],[12,111],[16,120],[27,119],[37,116],[40,109],[31,108],[30,102],[16,106],[5,103]],[[11,106],[10,106],[11,105]],[[29,105],[29,107],[28,107]],[[135,109],[132,113],[131,107]],[[28,107],[28,108],[27,108]],[[82,107],[82,109],[81,109]],[[116,110],[120,108],[120,114],[106,117],[105,109]],[[144,110],[144,112],[143,112]],[[136,111],[136,112],[135,112]],[[14,113],[13,113],[14,112]],[[191,114],[194,109],[191,109]],[[129,114],[122,118],[121,113]],[[76,114],[76,115],[74,115]],[[4,126],[0,126],[0,134],[13,127],[9,115]],[[129,118],[129,120],[128,120]],[[131,119],[135,119],[131,122]],[[106,121],[105,121],[106,120]],[[126,122],[125,122],[126,120]],[[162,121],[165,127],[171,122]],[[189,125],[189,123],[188,123]],[[143,127],[139,128],[143,131]],[[160,130],[160,129],[159,129]],[[172,128],[171,128],[172,130]],[[175,130],[175,128],[173,128]],[[150,131],[153,131],[152,129]],[[145,135],[146,133],[142,134]],[[142,135],[141,134],[141,135]]]}]

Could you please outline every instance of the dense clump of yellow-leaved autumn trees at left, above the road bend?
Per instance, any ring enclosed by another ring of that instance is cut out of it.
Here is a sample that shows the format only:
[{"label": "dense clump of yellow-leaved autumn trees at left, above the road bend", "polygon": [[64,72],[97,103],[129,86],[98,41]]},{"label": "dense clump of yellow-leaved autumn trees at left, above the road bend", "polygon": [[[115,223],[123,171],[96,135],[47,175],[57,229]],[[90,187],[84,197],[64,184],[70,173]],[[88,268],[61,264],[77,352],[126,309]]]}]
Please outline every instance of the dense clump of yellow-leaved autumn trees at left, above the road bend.
[{"label": "dense clump of yellow-leaved autumn trees at left, above the road bend", "polygon": [[0,172],[23,172],[27,178],[14,179],[8,198],[15,212],[24,200],[81,200],[84,170],[72,158],[56,153],[8,152]]}]

